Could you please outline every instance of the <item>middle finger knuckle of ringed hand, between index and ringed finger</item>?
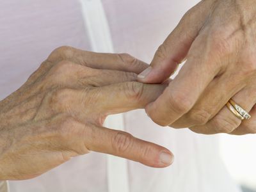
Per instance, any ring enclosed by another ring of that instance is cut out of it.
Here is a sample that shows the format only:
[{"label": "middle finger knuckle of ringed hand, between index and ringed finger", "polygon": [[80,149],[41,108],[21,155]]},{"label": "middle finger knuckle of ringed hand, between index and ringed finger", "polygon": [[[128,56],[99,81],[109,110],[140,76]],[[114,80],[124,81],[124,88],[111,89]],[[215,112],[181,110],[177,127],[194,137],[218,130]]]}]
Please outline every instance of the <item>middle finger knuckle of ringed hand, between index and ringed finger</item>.
[{"label": "middle finger knuckle of ringed hand, between index and ringed finger", "polygon": [[210,118],[211,114],[204,109],[191,110],[188,113],[188,119],[195,125],[205,125]]}]

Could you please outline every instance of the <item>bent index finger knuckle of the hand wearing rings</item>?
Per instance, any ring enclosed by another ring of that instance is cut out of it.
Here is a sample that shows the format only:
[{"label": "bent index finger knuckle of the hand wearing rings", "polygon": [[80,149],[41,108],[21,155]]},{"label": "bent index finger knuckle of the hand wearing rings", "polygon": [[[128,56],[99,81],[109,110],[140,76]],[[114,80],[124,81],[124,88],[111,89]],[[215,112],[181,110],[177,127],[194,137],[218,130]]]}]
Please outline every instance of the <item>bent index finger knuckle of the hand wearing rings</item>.
[{"label": "bent index finger knuckle of the hand wearing rings", "polygon": [[169,92],[168,103],[176,113],[187,113],[193,107],[193,102],[188,99],[186,93]]}]

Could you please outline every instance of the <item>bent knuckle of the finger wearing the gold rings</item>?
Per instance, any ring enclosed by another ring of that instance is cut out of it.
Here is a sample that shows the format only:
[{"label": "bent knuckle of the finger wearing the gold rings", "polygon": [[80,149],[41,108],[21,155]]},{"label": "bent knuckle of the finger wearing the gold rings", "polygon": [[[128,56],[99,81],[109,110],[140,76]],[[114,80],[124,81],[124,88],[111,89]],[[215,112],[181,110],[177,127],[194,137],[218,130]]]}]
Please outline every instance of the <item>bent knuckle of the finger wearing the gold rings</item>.
[{"label": "bent knuckle of the finger wearing the gold rings", "polygon": [[234,131],[239,124],[241,124],[240,120],[232,120],[230,118],[223,118],[218,116],[214,122],[214,129],[216,132],[230,133]]}]

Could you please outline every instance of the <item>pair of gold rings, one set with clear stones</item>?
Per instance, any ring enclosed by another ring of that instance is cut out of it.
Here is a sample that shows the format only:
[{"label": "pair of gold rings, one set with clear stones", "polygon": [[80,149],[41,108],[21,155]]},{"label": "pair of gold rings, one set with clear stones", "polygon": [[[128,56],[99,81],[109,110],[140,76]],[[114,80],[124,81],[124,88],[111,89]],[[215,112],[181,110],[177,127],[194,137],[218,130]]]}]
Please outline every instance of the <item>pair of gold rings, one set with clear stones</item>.
[{"label": "pair of gold rings, one set with clear stones", "polygon": [[236,115],[236,117],[239,118],[240,120],[251,118],[250,114],[247,113],[243,108],[241,108],[241,106],[236,104],[236,102],[234,102],[234,100],[232,100],[232,99],[228,100],[226,105],[227,105],[228,109],[234,115]]}]

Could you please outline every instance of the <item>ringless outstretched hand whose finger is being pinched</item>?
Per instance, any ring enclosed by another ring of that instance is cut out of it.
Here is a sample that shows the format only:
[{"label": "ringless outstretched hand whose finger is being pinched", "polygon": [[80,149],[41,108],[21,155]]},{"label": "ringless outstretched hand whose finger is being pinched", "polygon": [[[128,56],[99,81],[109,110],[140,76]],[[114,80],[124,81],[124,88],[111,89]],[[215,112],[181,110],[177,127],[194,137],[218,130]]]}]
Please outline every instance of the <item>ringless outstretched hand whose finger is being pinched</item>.
[{"label": "ringless outstretched hand whose finger is being pinched", "polygon": [[155,100],[165,85],[143,84],[147,68],[127,54],[60,47],[0,102],[0,180],[30,179],[90,150],[153,167],[172,153],[131,134],[102,127],[106,116]]}]

